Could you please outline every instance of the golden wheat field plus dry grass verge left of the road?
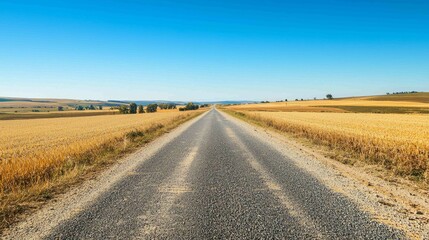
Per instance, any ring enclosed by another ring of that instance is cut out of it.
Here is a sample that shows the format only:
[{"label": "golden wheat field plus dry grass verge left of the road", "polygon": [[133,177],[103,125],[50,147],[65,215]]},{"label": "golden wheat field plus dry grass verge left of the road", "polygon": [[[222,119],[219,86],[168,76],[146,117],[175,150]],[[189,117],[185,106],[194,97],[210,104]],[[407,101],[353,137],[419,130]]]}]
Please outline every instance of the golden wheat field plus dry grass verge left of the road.
[{"label": "golden wheat field plus dry grass verge left of the road", "polygon": [[0,124],[0,229],[15,216],[201,111]]}]

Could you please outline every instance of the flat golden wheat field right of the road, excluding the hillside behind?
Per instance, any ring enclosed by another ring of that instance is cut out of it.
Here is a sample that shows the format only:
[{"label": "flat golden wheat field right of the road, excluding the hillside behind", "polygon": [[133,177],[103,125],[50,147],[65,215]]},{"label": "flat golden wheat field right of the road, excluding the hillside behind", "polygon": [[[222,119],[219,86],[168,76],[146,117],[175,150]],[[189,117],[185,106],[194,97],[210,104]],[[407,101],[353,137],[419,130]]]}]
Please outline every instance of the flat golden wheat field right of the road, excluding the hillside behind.
[{"label": "flat golden wheat field right of the road, excluding the hillside behind", "polygon": [[[429,182],[429,118],[418,114],[235,112],[362,162]],[[344,156],[344,155],[342,155]],[[341,159],[340,159],[341,160]]]}]

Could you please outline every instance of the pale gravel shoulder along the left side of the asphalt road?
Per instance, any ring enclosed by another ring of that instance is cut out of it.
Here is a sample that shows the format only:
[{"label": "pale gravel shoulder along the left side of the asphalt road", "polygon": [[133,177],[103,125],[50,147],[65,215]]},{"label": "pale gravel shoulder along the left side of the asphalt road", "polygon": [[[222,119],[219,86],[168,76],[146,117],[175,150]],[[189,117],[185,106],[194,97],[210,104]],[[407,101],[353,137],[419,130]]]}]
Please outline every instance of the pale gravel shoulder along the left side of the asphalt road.
[{"label": "pale gravel shoulder along the left side of the asphalt road", "polygon": [[119,159],[98,175],[72,186],[66,192],[58,194],[49,200],[40,209],[25,215],[22,220],[14,223],[4,230],[1,239],[42,239],[60,222],[72,218],[85,207],[94,202],[98,196],[107,191],[117,181],[126,177],[129,172],[151,156],[156,154],[163,146],[179,136],[183,131],[203,118],[211,110],[180,124],[170,132],[153,139],[140,147],[137,151]]}]

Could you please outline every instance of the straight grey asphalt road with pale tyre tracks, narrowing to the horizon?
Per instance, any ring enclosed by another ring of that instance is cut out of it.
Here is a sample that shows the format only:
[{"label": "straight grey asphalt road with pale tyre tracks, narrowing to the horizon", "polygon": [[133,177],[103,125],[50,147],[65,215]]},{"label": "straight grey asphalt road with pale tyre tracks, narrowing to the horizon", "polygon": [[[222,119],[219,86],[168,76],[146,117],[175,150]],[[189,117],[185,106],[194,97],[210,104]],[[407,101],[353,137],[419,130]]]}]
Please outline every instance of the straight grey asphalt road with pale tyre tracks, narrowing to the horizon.
[{"label": "straight grey asphalt road with pale tyre tracks, narrowing to the horizon", "polygon": [[213,109],[48,239],[398,239]]}]

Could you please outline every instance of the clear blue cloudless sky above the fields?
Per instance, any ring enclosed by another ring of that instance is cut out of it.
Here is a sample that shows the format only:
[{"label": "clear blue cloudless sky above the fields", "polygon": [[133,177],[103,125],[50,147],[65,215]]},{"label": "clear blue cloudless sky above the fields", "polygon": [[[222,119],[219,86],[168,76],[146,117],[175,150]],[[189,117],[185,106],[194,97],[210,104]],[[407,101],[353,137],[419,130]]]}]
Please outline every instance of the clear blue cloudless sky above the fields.
[{"label": "clear blue cloudless sky above the fields", "polygon": [[0,96],[429,91],[427,0],[0,0]]}]

